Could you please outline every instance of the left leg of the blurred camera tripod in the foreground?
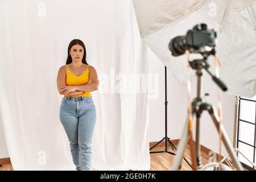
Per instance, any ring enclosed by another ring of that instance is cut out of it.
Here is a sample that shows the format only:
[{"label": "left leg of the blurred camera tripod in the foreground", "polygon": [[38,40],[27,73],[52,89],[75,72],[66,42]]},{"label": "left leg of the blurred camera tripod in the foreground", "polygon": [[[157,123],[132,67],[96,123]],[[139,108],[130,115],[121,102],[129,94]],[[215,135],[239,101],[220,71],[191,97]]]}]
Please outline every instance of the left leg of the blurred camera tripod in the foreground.
[{"label": "left leg of the blurred camera tripod in the foreground", "polygon": [[183,155],[185,152],[185,147],[187,146],[187,143],[188,143],[188,117],[186,119],[185,126],[184,126],[184,129],[182,132],[182,136],[181,136],[180,142],[177,147],[177,153],[174,158],[174,164],[172,165],[172,171],[178,171],[180,169]]}]

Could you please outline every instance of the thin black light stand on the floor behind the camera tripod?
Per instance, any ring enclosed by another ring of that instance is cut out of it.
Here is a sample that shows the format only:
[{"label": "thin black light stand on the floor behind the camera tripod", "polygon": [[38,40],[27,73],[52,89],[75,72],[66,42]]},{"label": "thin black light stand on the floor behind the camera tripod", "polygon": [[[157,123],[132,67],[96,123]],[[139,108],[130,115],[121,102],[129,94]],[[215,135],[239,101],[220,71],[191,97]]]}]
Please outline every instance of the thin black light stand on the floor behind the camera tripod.
[{"label": "thin black light stand on the floor behind the camera tripod", "polygon": [[[150,152],[150,154],[168,153],[168,154],[171,154],[171,155],[176,155],[173,152],[168,151],[168,148],[170,146],[172,147],[172,149],[175,149],[175,150],[177,150],[177,148],[171,142],[170,138],[167,137],[167,105],[168,105],[168,101],[167,101],[167,69],[166,69],[166,67],[164,67],[164,81],[165,81],[164,84],[165,84],[165,97],[166,97],[166,100],[164,102],[164,105],[166,106],[166,110],[165,110],[165,137],[150,148],[150,151],[151,151],[154,147],[158,146],[158,144],[161,143],[164,140],[164,142],[165,142],[164,143],[164,151],[154,151],[154,152]],[[169,146],[168,146],[168,143],[169,143]],[[191,164],[188,162],[188,160],[186,158],[183,158],[183,159],[191,167]]]}]

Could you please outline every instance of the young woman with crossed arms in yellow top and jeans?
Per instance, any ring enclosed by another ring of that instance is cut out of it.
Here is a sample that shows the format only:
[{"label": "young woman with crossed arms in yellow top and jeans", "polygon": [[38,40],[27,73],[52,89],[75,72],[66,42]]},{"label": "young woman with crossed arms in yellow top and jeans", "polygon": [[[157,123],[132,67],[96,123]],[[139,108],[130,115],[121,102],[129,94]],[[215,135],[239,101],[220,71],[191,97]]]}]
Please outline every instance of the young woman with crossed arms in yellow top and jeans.
[{"label": "young woman with crossed arms in yellow top and jeans", "polygon": [[96,70],[86,62],[84,43],[72,40],[66,64],[57,75],[57,89],[64,95],[60,121],[68,136],[73,162],[80,171],[91,168],[96,108],[90,92],[98,89],[98,83]]}]

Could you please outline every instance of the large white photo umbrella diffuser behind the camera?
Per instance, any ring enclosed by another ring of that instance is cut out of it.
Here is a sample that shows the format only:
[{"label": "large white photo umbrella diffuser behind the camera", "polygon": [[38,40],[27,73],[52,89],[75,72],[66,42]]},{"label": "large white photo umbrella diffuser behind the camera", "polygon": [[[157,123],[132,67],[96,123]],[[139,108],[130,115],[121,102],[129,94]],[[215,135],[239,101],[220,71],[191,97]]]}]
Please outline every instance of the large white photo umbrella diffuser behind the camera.
[{"label": "large white photo umbrella diffuser behind the camera", "polygon": [[[222,63],[220,78],[228,86],[227,93],[255,96],[255,0],[133,0],[133,4],[142,39],[181,84],[187,84],[187,58],[185,55],[172,56],[168,44],[196,24],[207,23],[208,28],[218,32],[217,54]],[[210,57],[210,70],[214,73],[213,63]],[[192,85],[196,86],[196,75],[191,72],[190,77]],[[208,75],[204,88],[217,88]]]}]

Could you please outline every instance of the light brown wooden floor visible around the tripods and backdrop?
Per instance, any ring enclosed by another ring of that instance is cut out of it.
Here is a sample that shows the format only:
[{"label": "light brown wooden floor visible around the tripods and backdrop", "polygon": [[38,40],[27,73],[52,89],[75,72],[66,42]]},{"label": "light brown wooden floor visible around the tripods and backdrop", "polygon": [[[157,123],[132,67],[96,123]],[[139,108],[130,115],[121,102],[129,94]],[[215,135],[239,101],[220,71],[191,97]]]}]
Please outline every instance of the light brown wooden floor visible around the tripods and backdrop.
[{"label": "light brown wooden floor visible around the tripods and backdrop", "polygon": [[[151,151],[163,151],[164,146],[162,147],[155,147]],[[175,150],[172,150],[170,147],[170,152],[176,153]],[[191,162],[189,147],[186,148],[185,151],[185,158],[188,159],[189,162]],[[170,171],[172,163],[174,162],[174,155],[168,154],[168,153],[158,153],[158,154],[150,154],[150,171]],[[208,154],[204,154],[204,152],[201,152],[201,160],[203,165],[209,163],[208,162]],[[181,164],[181,171],[191,171],[191,167],[188,166],[188,164],[183,160],[183,163]],[[13,171],[13,167],[11,164],[3,164],[3,167],[0,167],[0,171]]]}]

